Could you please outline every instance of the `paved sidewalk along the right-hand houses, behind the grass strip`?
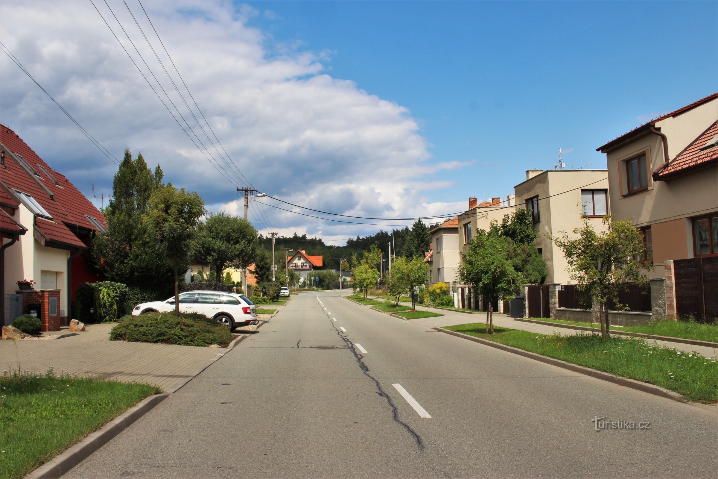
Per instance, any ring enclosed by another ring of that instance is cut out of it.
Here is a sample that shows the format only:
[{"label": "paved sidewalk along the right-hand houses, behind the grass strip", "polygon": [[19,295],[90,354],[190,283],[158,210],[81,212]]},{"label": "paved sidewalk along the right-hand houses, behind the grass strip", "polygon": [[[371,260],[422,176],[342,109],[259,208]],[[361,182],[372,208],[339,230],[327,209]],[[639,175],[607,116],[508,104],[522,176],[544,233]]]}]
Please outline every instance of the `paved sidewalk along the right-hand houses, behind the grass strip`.
[{"label": "paved sidewalk along the right-hand houses, behind the grass strip", "polygon": [[[466,313],[462,312],[453,312],[449,310],[438,310],[436,308],[430,308],[421,306],[421,304],[416,305],[417,310],[421,311],[431,311],[431,312],[438,312],[441,313],[444,316],[440,317],[422,317],[419,320],[411,320],[411,322],[414,322],[414,324],[426,326],[426,327],[444,327],[444,326],[453,326],[453,325],[463,325],[467,322],[486,322],[486,314],[482,313],[481,315],[468,315]],[[580,331],[580,330],[572,330],[567,327],[559,327],[559,325],[556,326],[546,326],[546,325],[536,325],[531,322],[523,322],[523,321],[514,321],[513,317],[510,317],[508,315],[504,315],[502,313],[495,312],[493,315],[493,323],[495,326],[501,326],[501,327],[510,327],[514,330],[524,330],[524,331],[531,331],[531,332],[538,332],[541,334],[551,334],[554,331],[560,332],[562,335],[575,335],[575,334],[586,334],[586,331]],[[686,352],[693,352],[698,351],[702,355],[704,355],[706,358],[713,358],[718,357],[718,350],[716,348],[709,348],[707,346],[696,346],[692,344],[686,344],[686,343],[673,343],[671,341],[659,341],[659,340],[652,340],[652,339],[646,339],[649,343],[654,343],[660,346],[663,346],[665,348],[673,348],[676,350],[683,350]]]}]

